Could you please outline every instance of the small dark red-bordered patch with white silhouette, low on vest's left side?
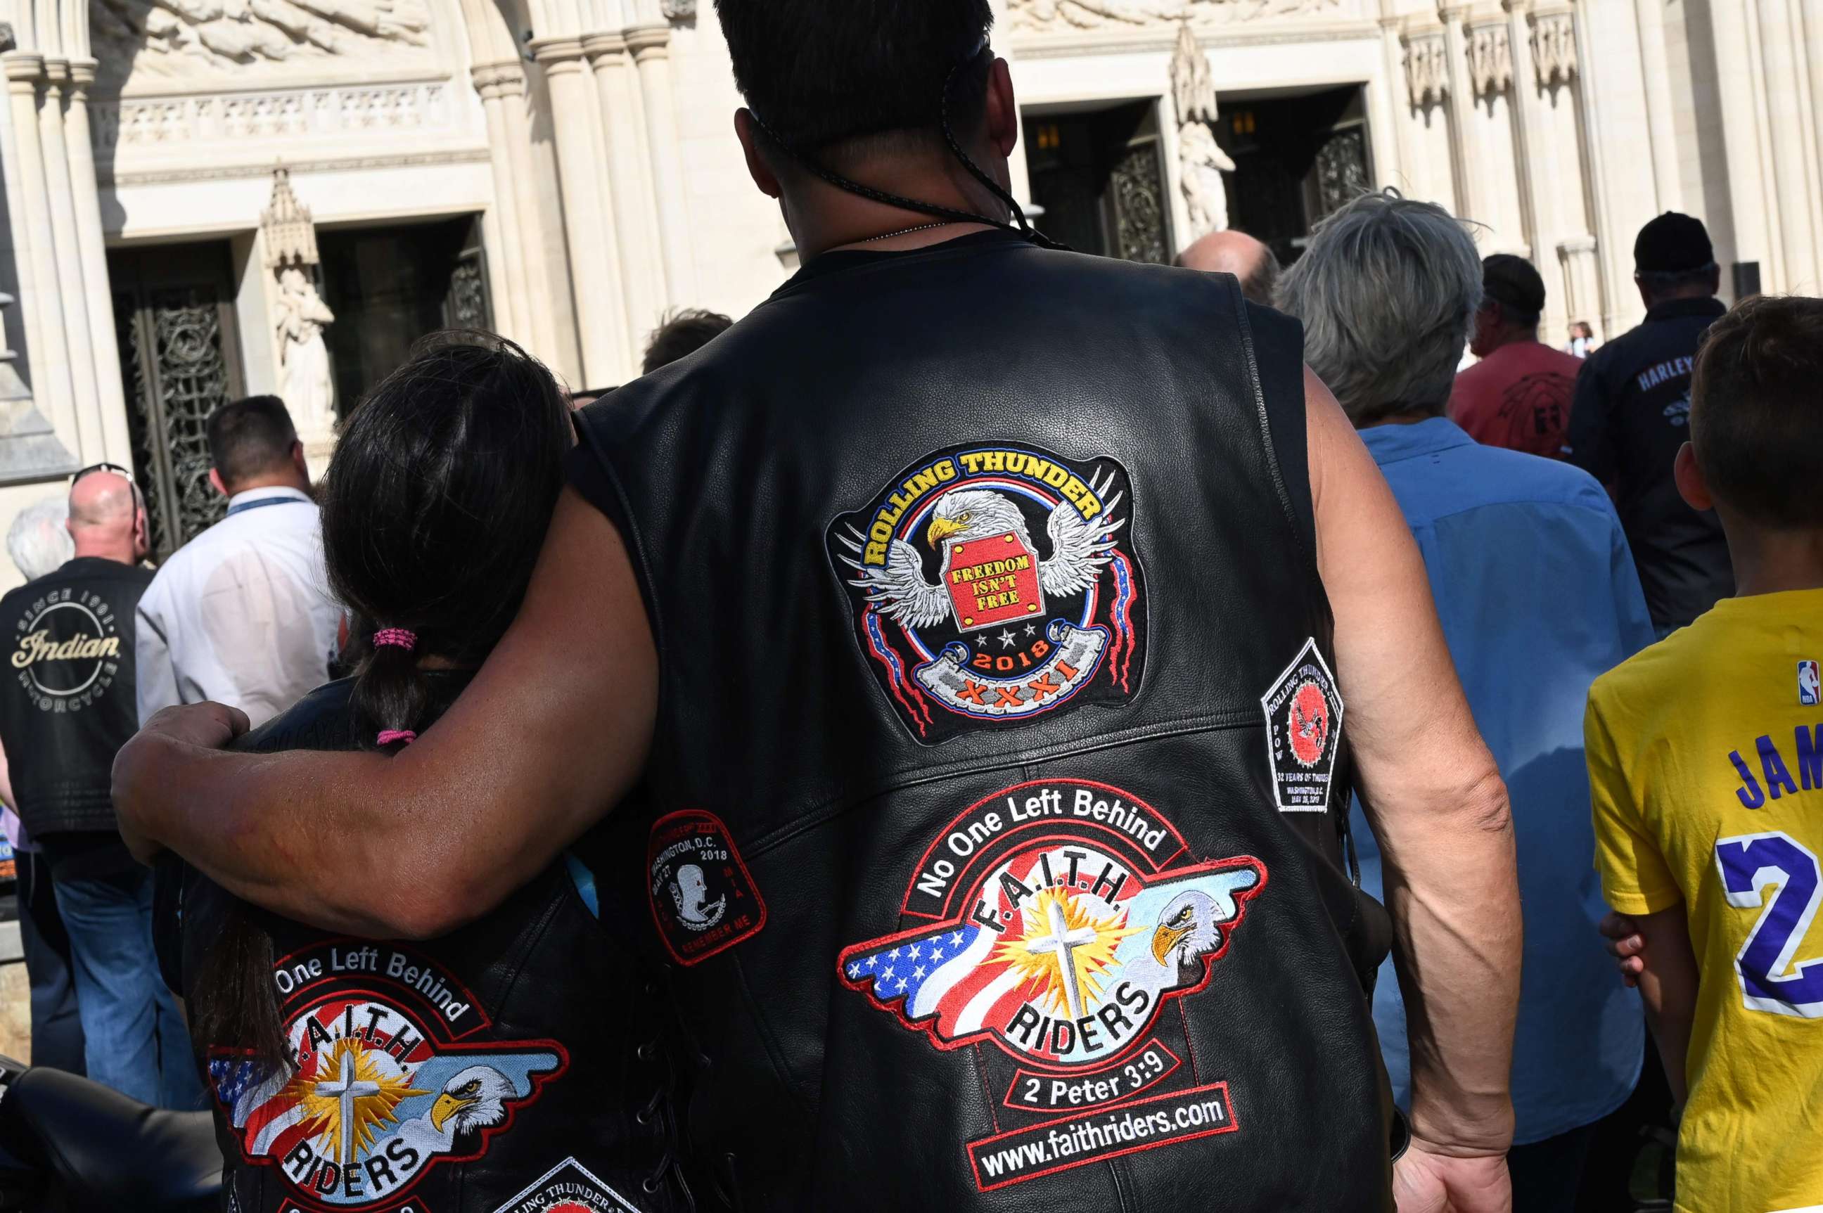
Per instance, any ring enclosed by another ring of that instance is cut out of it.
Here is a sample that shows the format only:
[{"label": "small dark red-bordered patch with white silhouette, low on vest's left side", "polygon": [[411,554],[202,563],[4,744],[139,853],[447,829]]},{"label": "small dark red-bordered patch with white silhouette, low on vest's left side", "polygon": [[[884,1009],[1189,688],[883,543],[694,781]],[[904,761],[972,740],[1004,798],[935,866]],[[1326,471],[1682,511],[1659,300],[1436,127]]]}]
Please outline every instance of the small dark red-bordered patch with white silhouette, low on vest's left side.
[{"label": "small dark red-bordered patch with white silhouette, low on vest's left side", "polygon": [[645,869],[653,922],[680,965],[702,963],[766,925],[766,902],[713,812],[685,809],[658,818]]}]

